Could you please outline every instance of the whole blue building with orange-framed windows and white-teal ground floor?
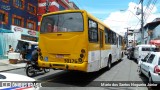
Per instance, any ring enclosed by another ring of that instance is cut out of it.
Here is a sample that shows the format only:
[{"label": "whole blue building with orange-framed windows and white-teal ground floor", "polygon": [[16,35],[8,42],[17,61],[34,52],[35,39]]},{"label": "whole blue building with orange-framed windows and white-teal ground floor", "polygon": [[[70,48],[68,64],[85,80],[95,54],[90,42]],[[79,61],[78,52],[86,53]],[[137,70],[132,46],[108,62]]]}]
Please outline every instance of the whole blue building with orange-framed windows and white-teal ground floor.
[{"label": "whole blue building with orange-framed windows and white-teal ground floor", "polygon": [[0,0],[0,56],[6,54],[9,45],[15,49],[17,39],[38,38],[33,35],[38,30],[37,10],[38,0]]}]

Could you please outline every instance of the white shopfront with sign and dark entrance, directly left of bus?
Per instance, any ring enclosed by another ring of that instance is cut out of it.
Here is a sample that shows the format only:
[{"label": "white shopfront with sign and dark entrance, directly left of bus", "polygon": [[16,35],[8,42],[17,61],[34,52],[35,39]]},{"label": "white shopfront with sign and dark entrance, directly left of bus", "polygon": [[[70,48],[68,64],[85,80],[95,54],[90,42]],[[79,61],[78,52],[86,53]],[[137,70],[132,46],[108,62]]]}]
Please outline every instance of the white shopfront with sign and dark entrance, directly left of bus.
[{"label": "white shopfront with sign and dark entrance, directly left of bus", "polygon": [[25,58],[28,59],[34,47],[38,45],[38,32],[12,25],[14,32],[13,48],[16,53],[25,51]]}]

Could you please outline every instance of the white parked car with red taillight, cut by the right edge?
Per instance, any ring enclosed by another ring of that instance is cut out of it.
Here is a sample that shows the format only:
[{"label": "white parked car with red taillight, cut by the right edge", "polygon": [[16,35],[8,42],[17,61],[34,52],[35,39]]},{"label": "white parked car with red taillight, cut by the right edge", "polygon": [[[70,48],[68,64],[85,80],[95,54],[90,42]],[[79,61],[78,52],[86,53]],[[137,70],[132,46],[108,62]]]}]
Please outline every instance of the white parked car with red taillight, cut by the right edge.
[{"label": "white parked car with red taillight, cut by the right edge", "polygon": [[151,52],[142,59],[139,74],[147,76],[149,83],[160,84],[160,52]]}]

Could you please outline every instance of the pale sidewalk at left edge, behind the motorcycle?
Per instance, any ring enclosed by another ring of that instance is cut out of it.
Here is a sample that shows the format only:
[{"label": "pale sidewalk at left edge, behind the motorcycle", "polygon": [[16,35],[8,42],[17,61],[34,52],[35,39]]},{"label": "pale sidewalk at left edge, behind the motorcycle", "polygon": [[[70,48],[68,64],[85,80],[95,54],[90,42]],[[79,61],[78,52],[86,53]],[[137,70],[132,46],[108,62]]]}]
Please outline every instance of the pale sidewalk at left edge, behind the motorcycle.
[{"label": "pale sidewalk at left edge, behind the motorcycle", "polygon": [[26,63],[10,64],[8,59],[0,59],[0,72],[24,68]]}]

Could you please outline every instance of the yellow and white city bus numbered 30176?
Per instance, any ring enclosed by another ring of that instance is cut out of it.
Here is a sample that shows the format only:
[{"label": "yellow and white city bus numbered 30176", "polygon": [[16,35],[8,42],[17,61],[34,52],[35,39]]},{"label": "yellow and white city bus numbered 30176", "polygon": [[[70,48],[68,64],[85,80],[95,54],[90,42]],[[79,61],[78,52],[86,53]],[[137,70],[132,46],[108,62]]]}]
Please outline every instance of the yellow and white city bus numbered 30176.
[{"label": "yellow and white city bus numbered 30176", "polygon": [[39,35],[40,67],[94,72],[123,57],[123,37],[85,10],[44,14]]}]

